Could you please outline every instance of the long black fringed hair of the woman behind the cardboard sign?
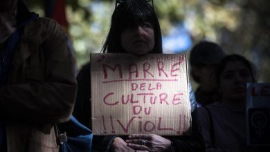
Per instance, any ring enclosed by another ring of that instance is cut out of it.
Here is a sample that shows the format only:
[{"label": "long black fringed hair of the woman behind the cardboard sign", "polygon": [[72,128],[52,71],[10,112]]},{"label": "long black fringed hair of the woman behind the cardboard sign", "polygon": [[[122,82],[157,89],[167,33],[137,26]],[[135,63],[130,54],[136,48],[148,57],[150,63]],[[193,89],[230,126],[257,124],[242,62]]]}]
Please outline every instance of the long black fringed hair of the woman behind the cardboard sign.
[{"label": "long black fringed hair of the woman behind the cardboard sign", "polygon": [[144,0],[122,0],[111,16],[111,28],[102,53],[125,53],[120,43],[120,35],[127,27],[136,27],[148,21],[154,28],[154,48],[150,53],[162,53],[161,28],[153,6]]}]

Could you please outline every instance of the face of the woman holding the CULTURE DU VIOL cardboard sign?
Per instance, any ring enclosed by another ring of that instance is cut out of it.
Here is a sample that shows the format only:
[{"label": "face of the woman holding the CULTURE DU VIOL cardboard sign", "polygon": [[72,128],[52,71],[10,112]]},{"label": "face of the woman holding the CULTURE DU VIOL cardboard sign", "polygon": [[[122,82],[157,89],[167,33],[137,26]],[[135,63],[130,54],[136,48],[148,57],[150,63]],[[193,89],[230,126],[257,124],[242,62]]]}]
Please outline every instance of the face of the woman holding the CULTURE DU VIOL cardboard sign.
[{"label": "face of the woman holding the CULTURE DU VIOL cardboard sign", "polygon": [[154,48],[154,28],[144,22],[135,28],[126,28],[120,36],[121,46],[127,53],[145,55]]}]

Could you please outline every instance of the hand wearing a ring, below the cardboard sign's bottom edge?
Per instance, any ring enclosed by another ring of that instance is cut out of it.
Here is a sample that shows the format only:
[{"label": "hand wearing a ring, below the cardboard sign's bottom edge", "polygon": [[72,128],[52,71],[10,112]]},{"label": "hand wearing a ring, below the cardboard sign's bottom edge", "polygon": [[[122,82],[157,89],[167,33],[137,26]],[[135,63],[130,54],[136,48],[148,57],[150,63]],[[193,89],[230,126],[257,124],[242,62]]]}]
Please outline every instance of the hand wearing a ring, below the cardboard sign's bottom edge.
[{"label": "hand wearing a ring, below the cardboard sign's bottom edge", "polygon": [[129,139],[126,142],[130,148],[141,151],[165,151],[171,145],[170,140],[154,134],[129,135]]}]

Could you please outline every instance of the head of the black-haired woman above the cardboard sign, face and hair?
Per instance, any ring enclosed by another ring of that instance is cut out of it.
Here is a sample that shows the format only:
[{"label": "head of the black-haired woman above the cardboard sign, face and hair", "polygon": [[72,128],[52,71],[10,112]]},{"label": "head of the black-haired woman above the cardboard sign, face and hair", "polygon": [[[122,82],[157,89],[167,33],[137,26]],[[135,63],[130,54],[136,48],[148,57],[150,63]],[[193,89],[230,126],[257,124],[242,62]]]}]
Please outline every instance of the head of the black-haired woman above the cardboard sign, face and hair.
[{"label": "head of the black-haired woman above the cardboard sign, face and hair", "polygon": [[146,0],[116,0],[102,52],[162,53],[161,28],[153,7]]}]

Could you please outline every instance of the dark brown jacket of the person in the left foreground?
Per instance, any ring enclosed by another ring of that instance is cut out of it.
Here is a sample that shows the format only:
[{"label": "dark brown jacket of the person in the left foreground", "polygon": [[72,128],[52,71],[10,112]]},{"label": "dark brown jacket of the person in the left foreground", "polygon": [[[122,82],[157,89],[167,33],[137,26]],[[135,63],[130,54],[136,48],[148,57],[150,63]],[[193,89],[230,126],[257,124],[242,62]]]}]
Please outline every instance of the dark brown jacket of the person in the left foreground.
[{"label": "dark brown jacket of the person in the left foreground", "polygon": [[[31,14],[22,5],[18,15],[24,21]],[[37,17],[22,28],[0,88],[8,151],[58,151],[53,124],[69,120],[77,89],[67,40],[51,19]]]}]

